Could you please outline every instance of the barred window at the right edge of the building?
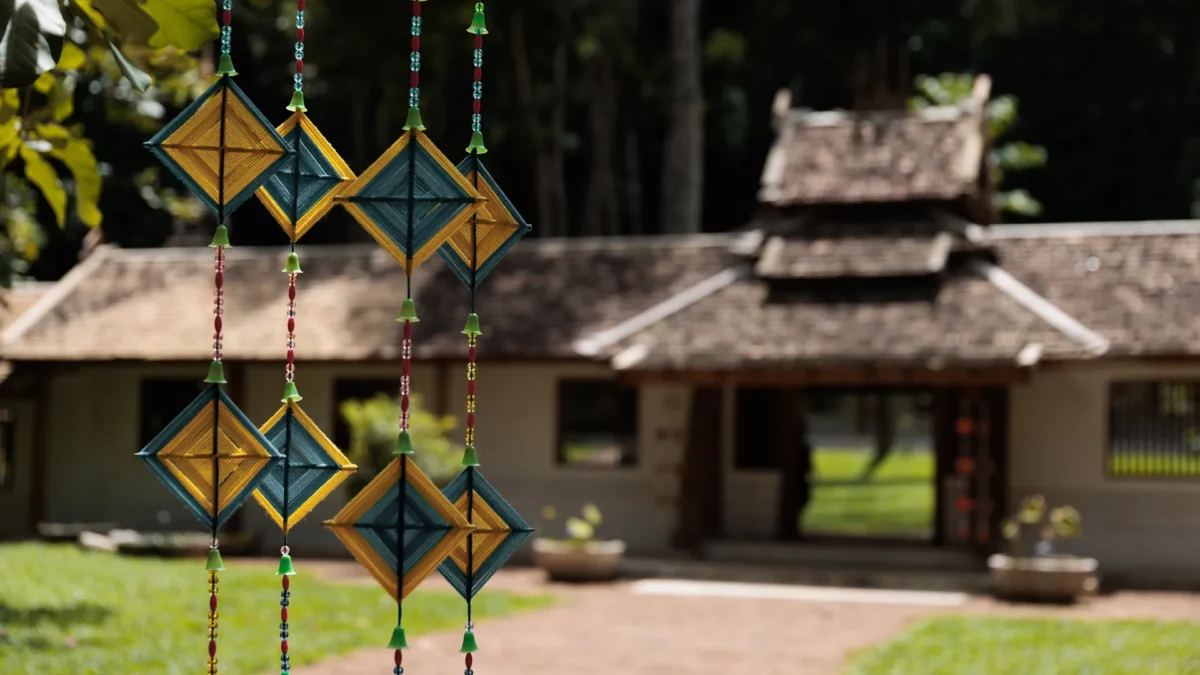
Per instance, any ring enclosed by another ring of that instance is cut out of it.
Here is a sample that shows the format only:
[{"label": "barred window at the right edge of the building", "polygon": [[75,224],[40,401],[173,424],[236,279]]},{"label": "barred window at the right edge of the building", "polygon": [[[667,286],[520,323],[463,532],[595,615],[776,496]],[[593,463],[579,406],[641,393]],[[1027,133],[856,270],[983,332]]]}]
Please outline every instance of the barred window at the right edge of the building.
[{"label": "barred window at the right edge of the building", "polygon": [[1112,383],[1106,471],[1114,478],[1200,478],[1200,382]]}]

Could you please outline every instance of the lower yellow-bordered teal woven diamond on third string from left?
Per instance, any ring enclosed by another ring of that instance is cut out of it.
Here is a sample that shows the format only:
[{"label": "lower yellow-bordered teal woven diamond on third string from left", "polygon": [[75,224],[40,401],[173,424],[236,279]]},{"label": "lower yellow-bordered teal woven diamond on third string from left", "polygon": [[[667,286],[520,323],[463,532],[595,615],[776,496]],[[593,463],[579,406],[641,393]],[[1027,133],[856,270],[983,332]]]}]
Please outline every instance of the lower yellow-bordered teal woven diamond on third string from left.
[{"label": "lower yellow-bordered teal woven diamond on third string from left", "polygon": [[396,601],[408,597],[472,530],[407,455],[379,472],[325,526]]}]

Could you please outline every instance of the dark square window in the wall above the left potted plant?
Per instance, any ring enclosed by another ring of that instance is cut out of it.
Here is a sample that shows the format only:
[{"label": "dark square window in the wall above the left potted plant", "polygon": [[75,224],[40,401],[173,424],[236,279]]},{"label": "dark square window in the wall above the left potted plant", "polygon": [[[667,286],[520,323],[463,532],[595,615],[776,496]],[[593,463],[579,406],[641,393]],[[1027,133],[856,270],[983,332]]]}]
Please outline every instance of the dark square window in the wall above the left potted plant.
[{"label": "dark square window in the wall above the left potted plant", "polygon": [[606,380],[558,383],[558,464],[637,464],[637,389]]}]

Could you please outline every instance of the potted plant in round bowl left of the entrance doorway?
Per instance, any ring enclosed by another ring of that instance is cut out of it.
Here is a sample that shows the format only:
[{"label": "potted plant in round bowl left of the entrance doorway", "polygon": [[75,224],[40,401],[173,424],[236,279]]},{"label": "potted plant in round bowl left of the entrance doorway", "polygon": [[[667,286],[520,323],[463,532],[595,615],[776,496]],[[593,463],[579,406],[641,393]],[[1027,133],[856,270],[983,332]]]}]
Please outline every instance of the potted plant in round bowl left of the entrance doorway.
[{"label": "potted plant in round bowl left of the entrance doorway", "polygon": [[[554,507],[541,510],[553,520]],[[539,537],[533,542],[534,562],[552,581],[607,581],[620,573],[625,542],[596,539],[595,531],[604,518],[595,504],[584,504],[580,518],[566,519],[566,537]]]}]

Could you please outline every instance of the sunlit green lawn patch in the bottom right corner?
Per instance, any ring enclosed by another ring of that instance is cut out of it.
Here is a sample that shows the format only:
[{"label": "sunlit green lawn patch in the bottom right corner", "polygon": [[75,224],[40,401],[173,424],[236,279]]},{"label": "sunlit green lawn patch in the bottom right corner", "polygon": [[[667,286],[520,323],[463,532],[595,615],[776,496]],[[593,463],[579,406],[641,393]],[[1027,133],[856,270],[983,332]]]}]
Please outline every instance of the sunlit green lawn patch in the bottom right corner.
[{"label": "sunlit green lawn patch in the bottom right corner", "polygon": [[860,655],[847,675],[1200,673],[1200,625],[946,616]]}]

